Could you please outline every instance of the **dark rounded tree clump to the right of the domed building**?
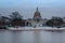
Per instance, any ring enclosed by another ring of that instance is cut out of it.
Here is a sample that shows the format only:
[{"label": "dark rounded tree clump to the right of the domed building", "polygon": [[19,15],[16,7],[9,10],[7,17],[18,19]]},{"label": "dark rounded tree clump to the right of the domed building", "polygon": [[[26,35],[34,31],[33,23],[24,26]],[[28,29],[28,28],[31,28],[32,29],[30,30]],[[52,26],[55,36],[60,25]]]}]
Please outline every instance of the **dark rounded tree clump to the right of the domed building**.
[{"label": "dark rounded tree clump to the right of the domed building", "polygon": [[61,17],[52,17],[50,20],[47,22],[48,26],[62,26],[63,19]]}]

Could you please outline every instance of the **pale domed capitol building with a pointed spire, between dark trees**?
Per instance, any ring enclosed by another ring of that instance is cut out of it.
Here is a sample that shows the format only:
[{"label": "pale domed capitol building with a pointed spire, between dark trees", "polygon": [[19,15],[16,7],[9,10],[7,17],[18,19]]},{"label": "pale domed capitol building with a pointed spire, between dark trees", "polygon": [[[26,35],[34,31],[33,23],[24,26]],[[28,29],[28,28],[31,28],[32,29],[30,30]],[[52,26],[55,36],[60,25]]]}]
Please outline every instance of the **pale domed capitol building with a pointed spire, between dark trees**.
[{"label": "pale domed capitol building with a pointed spire, between dark trees", "polygon": [[38,26],[38,27],[39,26],[44,26],[47,22],[48,22],[48,19],[46,19],[46,18],[43,19],[41,17],[41,14],[40,14],[38,8],[37,8],[35,14],[34,14],[34,17],[26,19],[27,26]]}]

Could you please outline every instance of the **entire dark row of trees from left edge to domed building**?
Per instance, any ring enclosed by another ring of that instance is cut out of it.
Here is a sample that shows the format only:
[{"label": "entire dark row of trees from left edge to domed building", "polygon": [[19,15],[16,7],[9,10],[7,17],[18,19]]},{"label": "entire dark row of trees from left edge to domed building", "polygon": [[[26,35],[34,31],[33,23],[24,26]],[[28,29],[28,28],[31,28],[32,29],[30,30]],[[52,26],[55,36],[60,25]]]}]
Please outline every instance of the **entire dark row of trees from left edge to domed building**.
[{"label": "entire dark row of trees from left edge to domed building", "polygon": [[1,16],[0,15],[0,29],[5,27],[17,27],[17,26],[25,26],[25,19],[18,12],[13,12],[10,17]]}]

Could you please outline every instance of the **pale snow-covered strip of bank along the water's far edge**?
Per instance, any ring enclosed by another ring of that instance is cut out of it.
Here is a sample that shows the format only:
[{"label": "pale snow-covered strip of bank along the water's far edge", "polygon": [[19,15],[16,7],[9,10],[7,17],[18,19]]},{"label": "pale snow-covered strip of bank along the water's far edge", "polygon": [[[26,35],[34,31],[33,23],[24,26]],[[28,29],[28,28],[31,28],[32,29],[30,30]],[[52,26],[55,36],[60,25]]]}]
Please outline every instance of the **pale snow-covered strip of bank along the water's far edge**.
[{"label": "pale snow-covered strip of bank along the water's far edge", "polygon": [[63,28],[55,28],[55,27],[9,27],[10,30],[65,30],[65,27]]}]

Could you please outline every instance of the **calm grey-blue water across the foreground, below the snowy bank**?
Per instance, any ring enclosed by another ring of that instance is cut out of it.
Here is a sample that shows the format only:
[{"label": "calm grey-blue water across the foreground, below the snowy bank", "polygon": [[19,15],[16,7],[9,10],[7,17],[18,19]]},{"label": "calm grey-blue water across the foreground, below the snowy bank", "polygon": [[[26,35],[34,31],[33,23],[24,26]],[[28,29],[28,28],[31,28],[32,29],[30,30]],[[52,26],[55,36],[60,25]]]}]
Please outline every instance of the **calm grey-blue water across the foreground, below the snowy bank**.
[{"label": "calm grey-blue water across the foreground, below the snowy bank", "polygon": [[0,43],[65,43],[65,31],[0,31]]}]

